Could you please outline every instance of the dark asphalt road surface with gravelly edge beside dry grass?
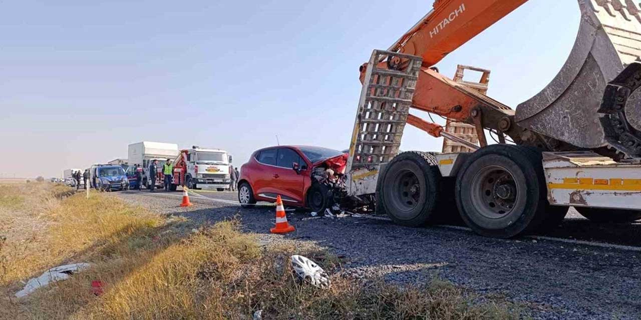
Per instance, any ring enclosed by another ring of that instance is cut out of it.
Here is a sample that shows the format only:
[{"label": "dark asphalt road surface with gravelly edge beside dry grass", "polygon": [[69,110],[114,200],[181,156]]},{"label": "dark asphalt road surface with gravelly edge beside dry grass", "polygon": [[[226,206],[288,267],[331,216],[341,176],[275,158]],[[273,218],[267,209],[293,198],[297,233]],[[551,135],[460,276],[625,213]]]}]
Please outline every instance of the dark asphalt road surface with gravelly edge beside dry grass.
[{"label": "dark asphalt road surface with gravelly edge beside dry grass", "polygon": [[183,208],[178,206],[179,193],[114,195],[159,214],[184,216],[193,227],[236,217],[244,231],[258,234],[267,245],[294,241],[323,246],[347,257],[342,272],[356,277],[416,283],[440,276],[522,303],[535,319],[641,317],[641,252],[528,238],[489,239],[464,230],[406,228],[367,218],[310,219],[304,211],[288,212],[296,232],[281,236],[269,233],[273,205],[244,209],[231,198],[192,196],[194,206]]}]

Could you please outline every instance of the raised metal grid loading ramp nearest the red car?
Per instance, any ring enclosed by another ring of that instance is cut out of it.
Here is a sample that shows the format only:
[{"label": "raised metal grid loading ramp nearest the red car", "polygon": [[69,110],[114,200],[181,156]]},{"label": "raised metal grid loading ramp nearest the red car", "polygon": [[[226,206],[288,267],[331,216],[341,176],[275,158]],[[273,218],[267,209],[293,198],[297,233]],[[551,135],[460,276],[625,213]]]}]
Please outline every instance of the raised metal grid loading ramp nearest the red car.
[{"label": "raised metal grid loading ramp nearest the red car", "polygon": [[[406,67],[403,71],[380,68],[379,61],[385,58],[400,58]],[[372,52],[358,102],[347,172],[374,168],[397,154],[421,63],[417,56]]]}]

